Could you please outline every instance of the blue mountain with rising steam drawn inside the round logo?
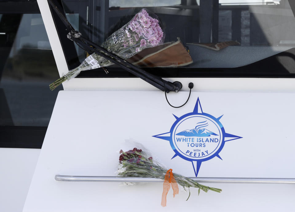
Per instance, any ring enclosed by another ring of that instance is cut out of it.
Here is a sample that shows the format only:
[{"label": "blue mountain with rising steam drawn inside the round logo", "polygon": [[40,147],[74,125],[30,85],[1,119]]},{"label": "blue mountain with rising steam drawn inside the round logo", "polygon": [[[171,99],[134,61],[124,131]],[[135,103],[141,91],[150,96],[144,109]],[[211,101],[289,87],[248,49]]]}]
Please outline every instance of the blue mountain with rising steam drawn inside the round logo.
[{"label": "blue mountain with rising steam drawn inside the round logo", "polygon": [[214,132],[211,132],[210,130],[207,130],[206,128],[204,128],[207,126],[208,126],[207,121],[199,122],[197,123],[197,126],[195,127],[195,129],[184,130],[177,133],[176,135],[183,135],[186,137],[208,137],[210,135],[217,135]]}]

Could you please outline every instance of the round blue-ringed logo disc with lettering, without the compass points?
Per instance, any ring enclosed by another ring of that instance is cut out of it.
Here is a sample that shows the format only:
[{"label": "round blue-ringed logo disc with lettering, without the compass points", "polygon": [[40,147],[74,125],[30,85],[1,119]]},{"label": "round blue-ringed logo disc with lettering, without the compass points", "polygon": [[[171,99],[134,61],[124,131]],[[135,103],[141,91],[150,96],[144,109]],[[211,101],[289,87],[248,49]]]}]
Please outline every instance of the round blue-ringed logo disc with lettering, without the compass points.
[{"label": "round blue-ringed logo disc with lettering, without the compass points", "polygon": [[205,114],[185,115],[171,129],[172,149],[187,161],[209,160],[220,152],[224,143],[223,127],[218,122]]}]

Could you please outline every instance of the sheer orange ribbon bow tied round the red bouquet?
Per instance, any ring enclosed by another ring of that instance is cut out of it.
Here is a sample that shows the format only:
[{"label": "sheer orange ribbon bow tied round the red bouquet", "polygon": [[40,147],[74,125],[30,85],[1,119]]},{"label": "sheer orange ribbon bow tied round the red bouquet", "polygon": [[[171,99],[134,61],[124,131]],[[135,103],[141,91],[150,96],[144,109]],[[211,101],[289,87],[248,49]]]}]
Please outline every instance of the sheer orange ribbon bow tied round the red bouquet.
[{"label": "sheer orange ribbon bow tied round the red bouquet", "polygon": [[173,189],[173,197],[175,197],[175,195],[178,194],[179,190],[178,190],[178,185],[173,176],[171,168],[166,172],[164,183],[163,183],[163,193],[162,193],[162,201],[161,201],[161,206],[163,207],[166,206],[166,197],[167,197],[168,191],[170,190],[170,184]]}]

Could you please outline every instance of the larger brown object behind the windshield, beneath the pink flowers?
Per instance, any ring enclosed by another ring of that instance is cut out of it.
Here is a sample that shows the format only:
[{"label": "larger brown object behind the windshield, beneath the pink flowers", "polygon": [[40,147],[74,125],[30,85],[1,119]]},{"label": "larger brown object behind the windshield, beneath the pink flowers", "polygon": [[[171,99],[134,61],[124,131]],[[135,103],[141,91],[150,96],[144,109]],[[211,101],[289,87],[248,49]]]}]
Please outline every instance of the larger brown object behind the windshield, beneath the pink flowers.
[{"label": "larger brown object behind the windshield, beneath the pink flowers", "polygon": [[127,61],[140,67],[179,67],[193,62],[179,38],[176,42],[146,48]]}]

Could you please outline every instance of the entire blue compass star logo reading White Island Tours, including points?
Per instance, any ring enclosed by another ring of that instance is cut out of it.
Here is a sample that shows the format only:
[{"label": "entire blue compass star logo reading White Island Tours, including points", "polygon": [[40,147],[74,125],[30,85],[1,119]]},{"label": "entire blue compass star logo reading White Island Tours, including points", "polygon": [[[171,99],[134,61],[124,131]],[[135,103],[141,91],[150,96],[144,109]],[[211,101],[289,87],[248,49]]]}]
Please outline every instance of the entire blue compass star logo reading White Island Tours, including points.
[{"label": "entire blue compass star logo reading White Island Tours, including points", "polygon": [[174,115],[176,121],[170,131],[153,137],[169,141],[175,152],[171,159],[179,156],[191,161],[195,176],[197,176],[203,161],[208,161],[213,157],[222,160],[219,153],[225,142],[242,138],[225,132],[219,121],[222,116],[215,118],[204,113],[198,98],[193,112],[181,117]]}]

